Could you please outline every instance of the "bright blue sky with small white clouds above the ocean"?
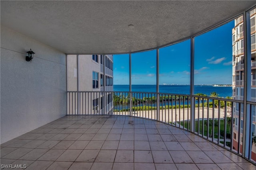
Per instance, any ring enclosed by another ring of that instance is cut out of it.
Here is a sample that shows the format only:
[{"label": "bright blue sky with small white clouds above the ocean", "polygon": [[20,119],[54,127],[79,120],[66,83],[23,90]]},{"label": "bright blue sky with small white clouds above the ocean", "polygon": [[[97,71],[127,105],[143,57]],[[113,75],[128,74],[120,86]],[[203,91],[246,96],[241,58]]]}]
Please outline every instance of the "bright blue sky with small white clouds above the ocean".
[{"label": "bright blue sky with small white clouds above the ocean", "polygon": [[[194,84],[232,84],[233,27],[195,37]],[[156,84],[156,50],[131,57],[132,84]],[[114,55],[114,84],[129,84],[129,54]],[[190,84],[190,40],[159,49],[159,84]]]}]

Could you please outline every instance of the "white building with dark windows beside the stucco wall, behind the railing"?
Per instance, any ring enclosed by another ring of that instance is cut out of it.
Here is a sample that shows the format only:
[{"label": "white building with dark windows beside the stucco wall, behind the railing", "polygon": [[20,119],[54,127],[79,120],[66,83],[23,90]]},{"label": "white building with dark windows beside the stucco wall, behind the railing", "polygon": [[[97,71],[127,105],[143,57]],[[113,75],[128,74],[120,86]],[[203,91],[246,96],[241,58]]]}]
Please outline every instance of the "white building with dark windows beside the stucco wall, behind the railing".
[{"label": "white building with dark windows beside the stucco wall, behind the railing", "polygon": [[113,56],[67,55],[68,114],[111,114]]}]

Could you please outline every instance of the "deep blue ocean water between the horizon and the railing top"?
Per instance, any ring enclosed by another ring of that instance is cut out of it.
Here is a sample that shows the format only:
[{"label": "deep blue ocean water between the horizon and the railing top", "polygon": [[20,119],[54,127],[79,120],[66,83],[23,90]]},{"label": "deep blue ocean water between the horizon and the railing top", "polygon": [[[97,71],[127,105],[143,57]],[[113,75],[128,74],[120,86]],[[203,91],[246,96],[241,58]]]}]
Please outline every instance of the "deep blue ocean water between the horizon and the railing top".
[{"label": "deep blue ocean water between the horizon and the railing top", "polygon": [[[129,92],[129,85],[114,85],[114,91]],[[156,92],[156,85],[132,85],[132,92]],[[160,85],[160,93],[168,94],[190,94],[189,85]],[[219,97],[226,98],[232,96],[232,87],[224,86],[208,86],[208,85],[195,85],[194,93],[202,93],[210,96],[211,92],[216,92]]]}]

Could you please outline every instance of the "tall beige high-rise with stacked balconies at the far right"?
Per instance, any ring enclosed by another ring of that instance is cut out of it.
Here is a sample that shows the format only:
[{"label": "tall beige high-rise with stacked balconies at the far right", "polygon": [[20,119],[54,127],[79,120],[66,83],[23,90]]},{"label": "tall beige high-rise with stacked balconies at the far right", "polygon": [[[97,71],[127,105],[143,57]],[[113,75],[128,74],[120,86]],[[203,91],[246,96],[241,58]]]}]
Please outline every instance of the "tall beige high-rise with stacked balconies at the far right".
[{"label": "tall beige high-rise with stacked balconies at the far right", "polygon": [[[256,102],[256,44],[255,44],[255,18],[256,9],[250,11],[250,35],[251,35],[251,100]],[[235,19],[235,27],[232,29],[232,70],[233,70],[233,99],[244,100],[244,22],[243,16]],[[240,145],[240,152],[242,152],[243,141],[238,141],[238,133],[240,131],[240,139],[243,133],[243,111],[244,104],[234,104],[234,120],[233,120],[233,149],[238,150]],[[255,106],[252,106],[250,114],[252,115],[251,133],[256,132],[256,113]],[[240,119],[239,119],[240,113]],[[240,123],[240,129],[238,129]],[[252,135],[253,137],[253,135]],[[251,152],[252,160],[256,161],[256,145],[252,144]]]}]

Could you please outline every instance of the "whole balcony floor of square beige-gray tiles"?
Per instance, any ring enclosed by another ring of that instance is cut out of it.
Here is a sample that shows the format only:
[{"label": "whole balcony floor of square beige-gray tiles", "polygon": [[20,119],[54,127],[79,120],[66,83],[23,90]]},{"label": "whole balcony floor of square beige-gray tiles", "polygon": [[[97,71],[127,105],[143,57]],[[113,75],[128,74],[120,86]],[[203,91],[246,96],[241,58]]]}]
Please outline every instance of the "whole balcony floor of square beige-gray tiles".
[{"label": "whole balcony floor of square beige-gray tiles", "polygon": [[256,166],[187,131],[117,115],[67,115],[1,145],[26,170],[202,170]]}]

